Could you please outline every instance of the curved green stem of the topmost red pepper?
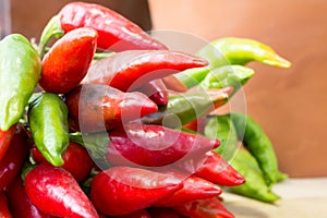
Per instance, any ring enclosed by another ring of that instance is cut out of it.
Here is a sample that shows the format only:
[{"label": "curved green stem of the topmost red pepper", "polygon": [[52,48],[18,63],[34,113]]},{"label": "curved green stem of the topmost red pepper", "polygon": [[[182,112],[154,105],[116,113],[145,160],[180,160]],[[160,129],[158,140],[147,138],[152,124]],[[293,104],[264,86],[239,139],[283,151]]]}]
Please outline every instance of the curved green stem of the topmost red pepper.
[{"label": "curved green stem of the topmost red pepper", "polygon": [[50,19],[50,21],[48,22],[48,24],[46,25],[46,27],[44,28],[40,40],[39,40],[39,45],[38,45],[38,49],[37,49],[39,56],[40,57],[44,56],[46,45],[49,43],[49,40],[52,37],[60,38],[63,35],[64,35],[64,31],[61,27],[59,15],[52,16]]}]

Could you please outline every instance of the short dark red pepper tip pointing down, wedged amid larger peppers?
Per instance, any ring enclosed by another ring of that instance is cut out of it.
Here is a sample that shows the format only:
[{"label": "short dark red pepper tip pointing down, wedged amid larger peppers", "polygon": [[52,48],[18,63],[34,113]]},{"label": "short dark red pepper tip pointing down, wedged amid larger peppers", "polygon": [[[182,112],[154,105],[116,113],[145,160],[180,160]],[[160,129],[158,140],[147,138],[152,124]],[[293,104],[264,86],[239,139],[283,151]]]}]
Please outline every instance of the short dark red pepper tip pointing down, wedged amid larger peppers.
[{"label": "short dark red pepper tip pointing down, wedged amid larger peppers", "polygon": [[141,86],[136,90],[144,93],[158,106],[166,106],[168,104],[167,87],[160,78],[143,84],[143,86]]}]

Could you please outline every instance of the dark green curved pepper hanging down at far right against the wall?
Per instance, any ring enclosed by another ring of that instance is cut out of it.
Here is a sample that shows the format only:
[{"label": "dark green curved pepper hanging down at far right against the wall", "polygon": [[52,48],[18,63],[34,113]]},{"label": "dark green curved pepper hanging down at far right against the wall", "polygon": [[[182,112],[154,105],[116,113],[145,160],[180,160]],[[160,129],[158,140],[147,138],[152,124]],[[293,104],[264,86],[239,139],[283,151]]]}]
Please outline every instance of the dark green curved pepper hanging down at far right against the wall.
[{"label": "dark green curved pepper hanging down at far right against the wall", "polygon": [[276,182],[287,179],[287,174],[278,169],[277,157],[269,137],[258,123],[242,113],[231,113],[239,140],[257,160],[266,183],[271,186]]}]

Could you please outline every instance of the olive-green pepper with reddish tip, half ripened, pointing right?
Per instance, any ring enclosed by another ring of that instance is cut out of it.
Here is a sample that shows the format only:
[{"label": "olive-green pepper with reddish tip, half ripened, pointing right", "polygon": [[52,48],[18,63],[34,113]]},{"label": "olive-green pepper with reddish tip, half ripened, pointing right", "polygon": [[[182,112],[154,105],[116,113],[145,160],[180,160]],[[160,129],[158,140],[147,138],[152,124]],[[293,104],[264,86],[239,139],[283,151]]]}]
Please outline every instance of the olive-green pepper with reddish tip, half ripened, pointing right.
[{"label": "olive-green pepper with reddish tip, half ripened, pointing right", "polygon": [[145,124],[160,124],[168,128],[180,128],[213,110],[216,104],[225,101],[232,93],[231,87],[170,95],[167,107],[141,119]]}]

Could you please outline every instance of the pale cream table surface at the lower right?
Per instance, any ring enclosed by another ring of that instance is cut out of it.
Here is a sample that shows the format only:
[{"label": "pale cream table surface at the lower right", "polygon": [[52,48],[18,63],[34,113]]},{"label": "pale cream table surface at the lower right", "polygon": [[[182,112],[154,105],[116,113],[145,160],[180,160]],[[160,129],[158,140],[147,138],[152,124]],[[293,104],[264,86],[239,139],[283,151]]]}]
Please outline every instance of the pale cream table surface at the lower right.
[{"label": "pale cream table surface at the lower right", "polygon": [[274,192],[281,196],[274,205],[231,193],[223,204],[237,218],[327,218],[327,178],[289,179]]}]

